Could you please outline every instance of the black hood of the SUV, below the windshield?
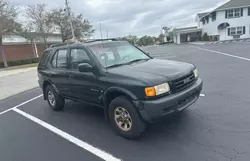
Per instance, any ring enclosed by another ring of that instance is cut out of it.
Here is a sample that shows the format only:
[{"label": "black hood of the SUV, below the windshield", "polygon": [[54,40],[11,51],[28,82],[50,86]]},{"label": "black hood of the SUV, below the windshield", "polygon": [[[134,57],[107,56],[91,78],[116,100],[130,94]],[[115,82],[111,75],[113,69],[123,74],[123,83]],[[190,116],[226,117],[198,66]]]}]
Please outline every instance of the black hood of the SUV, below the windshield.
[{"label": "black hood of the SUV, below the windshield", "polygon": [[194,69],[194,65],[188,63],[150,59],[145,62],[141,61],[133,63],[132,65],[111,68],[108,72],[140,80],[147,80],[153,85],[158,85],[183,77]]}]

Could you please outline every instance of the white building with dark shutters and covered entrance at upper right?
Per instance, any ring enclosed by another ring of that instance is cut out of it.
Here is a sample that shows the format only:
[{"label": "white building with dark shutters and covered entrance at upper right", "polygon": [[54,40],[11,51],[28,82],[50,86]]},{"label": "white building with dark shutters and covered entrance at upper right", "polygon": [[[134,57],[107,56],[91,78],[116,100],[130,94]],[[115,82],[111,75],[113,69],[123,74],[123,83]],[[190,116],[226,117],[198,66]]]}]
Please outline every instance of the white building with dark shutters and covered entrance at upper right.
[{"label": "white building with dark shutters and covered entrance at upper right", "polygon": [[[202,35],[207,33],[210,40],[250,38],[250,0],[230,0],[211,12],[197,14],[196,22],[197,31],[200,29]],[[190,34],[192,33],[185,33]],[[177,29],[176,43],[185,42],[178,41],[181,40],[181,35],[183,34]]]}]

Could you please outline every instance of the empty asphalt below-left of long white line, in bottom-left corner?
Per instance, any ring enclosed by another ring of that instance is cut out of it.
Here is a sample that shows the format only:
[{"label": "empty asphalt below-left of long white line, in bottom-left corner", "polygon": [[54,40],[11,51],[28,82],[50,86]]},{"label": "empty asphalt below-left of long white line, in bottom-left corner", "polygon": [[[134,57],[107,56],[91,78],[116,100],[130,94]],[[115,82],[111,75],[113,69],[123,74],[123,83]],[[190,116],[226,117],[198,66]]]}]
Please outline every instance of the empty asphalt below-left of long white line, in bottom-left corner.
[{"label": "empty asphalt below-left of long white line, in bottom-left corner", "polygon": [[0,117],[0,160],[101,160],[11,111]]}]

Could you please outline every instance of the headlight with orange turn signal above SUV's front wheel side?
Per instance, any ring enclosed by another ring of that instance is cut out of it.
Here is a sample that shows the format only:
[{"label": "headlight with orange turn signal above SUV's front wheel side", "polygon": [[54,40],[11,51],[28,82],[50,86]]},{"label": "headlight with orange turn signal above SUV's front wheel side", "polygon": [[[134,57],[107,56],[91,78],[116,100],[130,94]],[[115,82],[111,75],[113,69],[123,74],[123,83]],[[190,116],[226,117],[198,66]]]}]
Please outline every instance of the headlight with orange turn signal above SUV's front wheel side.
[{"label": "headlight with orange turn signal above SUV's front wheel side", "polygon": [[158,95],[167,93],[169,91],[170,91],[170,87],[168,83],[163,83],[158,86],[145,88],[145,95],[147,97],[153,97],[153,96],[158,96]]}]

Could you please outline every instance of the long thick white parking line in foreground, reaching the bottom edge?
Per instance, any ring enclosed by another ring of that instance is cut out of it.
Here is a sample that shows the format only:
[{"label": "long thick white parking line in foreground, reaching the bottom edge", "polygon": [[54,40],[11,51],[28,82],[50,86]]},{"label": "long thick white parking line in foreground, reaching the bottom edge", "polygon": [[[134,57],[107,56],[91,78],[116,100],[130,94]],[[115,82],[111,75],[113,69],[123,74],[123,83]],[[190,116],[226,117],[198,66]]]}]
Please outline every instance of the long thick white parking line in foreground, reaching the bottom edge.
[{"label": "long thick white parking line in foreground, reaching the bottom edge", "polygon": [[23,115],[24,117],[30,119],[31,121],[43,126],[44,128],[50,130],[51,132],[63,137],[64,139],[70,141],[71,143],[73,143],[73,144],[75,144],[75,145],[89,151],[90,153],[100,157],[103,160],[121,161],[121,159],[115,158],[111,154],[109,154],[109,153],[107,153],[105,151],[102,151],[102,150],[100,150],[100,149],[98,149],[98,148],[96,148],[96,147],[94,147],[94,146],[92,146],[92,145],[90,145],[90,144],[88,144],[88,143],[86,143],[86,142],[84,142],[84,141],[82,141],[82,140],[80,140],[80,139],[78,139],[78,138],[76,138],[76,137],[74,137],[74,136],[72,136],[72,135],[70,135],[70,134],[68,134],[68,133],[66,133],[66,132],[64,132],[64,131],[62,131],[62,130],[60,130],[60,129],[58,129],[58,128],[56,128],[56,127],[54,127],[54,126],[40,120],[40,119],[38,119],[38,118],[36,118],[36,117],[34,117],[34,116],[32,116],[32,115],[30,115],[30,114],[27,114],[24,111],[21,111],[21,110],[19,110],[17,108],[13,108],[12,110],[19,113],[19,114],[21,114],[21,115]]}]

